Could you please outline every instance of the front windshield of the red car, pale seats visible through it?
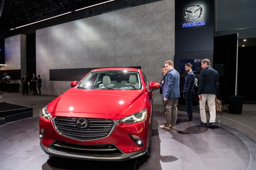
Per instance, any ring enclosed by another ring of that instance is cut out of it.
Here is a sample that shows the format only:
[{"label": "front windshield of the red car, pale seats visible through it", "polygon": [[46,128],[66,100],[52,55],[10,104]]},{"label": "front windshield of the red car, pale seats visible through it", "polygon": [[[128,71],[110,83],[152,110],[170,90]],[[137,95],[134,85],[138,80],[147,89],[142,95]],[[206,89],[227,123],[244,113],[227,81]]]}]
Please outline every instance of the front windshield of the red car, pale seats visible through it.
[{"label": "front windshield of the red car, pale seats visible through it", "polygon": [[106,70],[89,73],[77,86],[84,89],[141,89],[139,72]]}]

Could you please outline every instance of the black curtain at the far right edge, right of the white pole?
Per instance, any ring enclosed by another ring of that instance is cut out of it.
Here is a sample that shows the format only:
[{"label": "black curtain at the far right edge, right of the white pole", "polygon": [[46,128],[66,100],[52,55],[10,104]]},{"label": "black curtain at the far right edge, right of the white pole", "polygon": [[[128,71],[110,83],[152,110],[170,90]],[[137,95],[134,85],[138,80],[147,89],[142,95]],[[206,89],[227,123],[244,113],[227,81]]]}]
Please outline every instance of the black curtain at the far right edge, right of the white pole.
[{"label": "black curtain at the far right edge, right of the white pole", "polygon": [[[244,96],[244,102],[255,103],[255,75],[256,47],[238,47],[238,80],[237,94]],[[253,102],[254,101],[254,102]]]}]

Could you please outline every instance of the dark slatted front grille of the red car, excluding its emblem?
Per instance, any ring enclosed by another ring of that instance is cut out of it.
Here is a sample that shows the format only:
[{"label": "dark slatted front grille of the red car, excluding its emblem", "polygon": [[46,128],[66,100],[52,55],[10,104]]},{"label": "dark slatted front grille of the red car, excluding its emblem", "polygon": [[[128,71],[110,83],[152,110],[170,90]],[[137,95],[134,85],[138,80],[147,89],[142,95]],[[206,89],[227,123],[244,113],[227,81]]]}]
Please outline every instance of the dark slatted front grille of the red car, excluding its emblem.
[{"label": "dark slatted front grille of the red car, excluding its emblem", "polygon": [[77,128],[77,117],[54,117],[53,124],[59,134],[79,141],[101,139],[108,136],[113,128],[114,121],[111,119],[90,119],[88,127]]}]

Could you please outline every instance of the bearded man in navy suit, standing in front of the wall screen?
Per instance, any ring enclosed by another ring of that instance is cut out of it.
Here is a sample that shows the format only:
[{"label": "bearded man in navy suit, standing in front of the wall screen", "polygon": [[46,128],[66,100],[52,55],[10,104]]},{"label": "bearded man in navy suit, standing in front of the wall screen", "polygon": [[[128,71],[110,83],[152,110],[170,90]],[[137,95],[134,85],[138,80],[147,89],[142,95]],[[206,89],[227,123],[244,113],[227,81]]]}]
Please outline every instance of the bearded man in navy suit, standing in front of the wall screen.
[{"label": "bearded man in navy suit, standing in front of the wall screen", "polygon": [[194,94],[194,83],[195,83],[195,74],[192,72],[192,64],[185,64],[185,70],[188,73],[185,83],[183,93],[185,94],[186,106],[188,116],[183,118],[183,121],[191,121],[193,118],[192,112],[192,96]]}]

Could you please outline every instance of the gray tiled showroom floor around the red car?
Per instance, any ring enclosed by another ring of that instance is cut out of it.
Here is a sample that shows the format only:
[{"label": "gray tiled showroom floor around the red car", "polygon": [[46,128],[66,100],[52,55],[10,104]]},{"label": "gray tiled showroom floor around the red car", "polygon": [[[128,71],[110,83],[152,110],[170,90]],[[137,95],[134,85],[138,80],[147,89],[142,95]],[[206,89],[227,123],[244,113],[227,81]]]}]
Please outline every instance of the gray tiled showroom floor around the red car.
[{"label": "gray tiled showroom floor around the red car", "polygon": [[256,169],[256,105],[244,104],[241,115],[226,113],[223,108],[223,116],[216,128],[201,126],[200,115],[196,111],[193,121],[183,122],[182,117],[186,112],[179,110],[176,129],[170,131],[159,128],[164,122],[164,117],[160,116],[158,111],[154,111],[153,150],[150,157],[143,156],[126,162],[95,162],[57,158],[45,154],[39,147],[39,112],[56,96],[22,96],[21,94],[20,92],[0,94],[0,102],[32,106],[34,110],[33,118],[0,126],[1,170]]}]

